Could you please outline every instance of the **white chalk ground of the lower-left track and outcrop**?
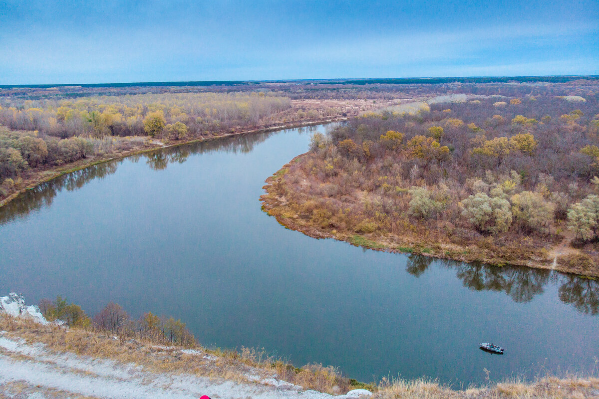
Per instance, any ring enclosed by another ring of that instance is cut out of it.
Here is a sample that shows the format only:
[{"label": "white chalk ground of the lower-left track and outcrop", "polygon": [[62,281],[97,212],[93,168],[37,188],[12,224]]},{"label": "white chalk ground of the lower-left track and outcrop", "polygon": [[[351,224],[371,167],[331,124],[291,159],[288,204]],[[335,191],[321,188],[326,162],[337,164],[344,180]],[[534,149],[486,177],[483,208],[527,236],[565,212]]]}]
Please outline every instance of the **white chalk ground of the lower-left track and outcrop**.
[{"label": "white chalk ground of the lower-left track and outcrop", "polygon": [[[22,306],[15,305],[15,301]],[[21,303],[16,297],[1,297],[0,303],[4,306],[0,313],[9,313],[7,309],[10,309],[12,316],[35,319],[41,316],[39,309],[37,312],[32,309],[31,313],[23,310],[27,309],[23,307],[24,301]],[[41,321],[47,323],[43,317]],[[207,356],[195,350],[181,352],[204,359]],[[333,396],[304,390],[276,377],[264,379],[257,374],[247,375],[247,380],[249,382],[237,382],[195,374],[147,371],[132,363],[55,352],[43,343],[27,343],[0,331],[0,398],[197,399],[208,395],[211,399],[349,399],[371,395],[365,389],[355,389]]]}]

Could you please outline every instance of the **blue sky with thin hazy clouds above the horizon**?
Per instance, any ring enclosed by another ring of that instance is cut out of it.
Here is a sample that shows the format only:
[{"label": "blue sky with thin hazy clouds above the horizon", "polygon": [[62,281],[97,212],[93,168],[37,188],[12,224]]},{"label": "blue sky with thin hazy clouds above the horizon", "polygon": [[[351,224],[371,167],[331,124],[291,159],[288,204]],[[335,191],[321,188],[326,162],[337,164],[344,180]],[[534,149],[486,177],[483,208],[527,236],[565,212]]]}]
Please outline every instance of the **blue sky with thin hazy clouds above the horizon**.
[{"label": "blue sky with thin hazy clouds above the horizon", "polygon": [[599,1],[0,0],[0,84],[599,75]]}]

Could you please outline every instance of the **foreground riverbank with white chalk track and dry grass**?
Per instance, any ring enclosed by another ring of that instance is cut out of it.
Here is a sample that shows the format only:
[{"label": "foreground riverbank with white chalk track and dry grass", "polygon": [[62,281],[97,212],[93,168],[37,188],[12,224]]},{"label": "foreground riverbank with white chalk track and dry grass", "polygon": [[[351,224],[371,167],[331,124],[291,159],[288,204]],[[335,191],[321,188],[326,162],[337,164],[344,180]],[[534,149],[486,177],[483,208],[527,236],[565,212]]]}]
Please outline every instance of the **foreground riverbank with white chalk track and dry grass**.
[{"label": "foreground riverbank with white chalk track and dry grass", "polygon": [[[255,352],[223,352],[121,339],[81,328],[0,316],[0,397],[482,399],[595,398],[596,377],[540,377],[454,390],[430,380],[387,380],[367,388],[332,368],[295,368]],[[20,397],[20,396],[19,396]]]}]

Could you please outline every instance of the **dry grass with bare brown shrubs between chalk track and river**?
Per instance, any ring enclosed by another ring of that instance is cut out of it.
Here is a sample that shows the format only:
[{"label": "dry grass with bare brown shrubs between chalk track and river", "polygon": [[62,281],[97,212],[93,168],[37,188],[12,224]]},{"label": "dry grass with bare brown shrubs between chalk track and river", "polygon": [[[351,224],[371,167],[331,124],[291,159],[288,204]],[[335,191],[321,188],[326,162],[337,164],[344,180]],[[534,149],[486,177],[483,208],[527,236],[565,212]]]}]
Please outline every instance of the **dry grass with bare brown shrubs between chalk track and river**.
[{"label": "dry grass with bare brown shrubs between chalk track and river", "polygon": [[[120,317],[113,318],[114,322],[108,324],[98,322],[98,316],[110,312],[107,310],[109,308],[113,311],[116,309]],[[44,343],[55,352],[135,363],[155,372],[195,374],[239,382],[253,381],[250,376],[259,379],[277,376],[305,389],[337,394],[355,389],[356,386],[366,386],[341,376],[332,366],[308,364],[298,368],[264,351],[250,348],[242,348],[239,352],[207,349],[196,343],[188,331],[188,340],[169,339],[164,328],[168,328],[172,319],[161,321],[152,313],[145,313],[140,321],[133,322],[118,305],[111,303],[99,315],[94,318],[93,324],[75,324],[64,328],[56,324],[41,325],[3,313],[0,315],[0,331],[7,331],[9,337]],[[206,356],[187,355],[181,352],[183,348],[193,349],[194,353]],[[368,387],[373,388],[370,385]]]}]

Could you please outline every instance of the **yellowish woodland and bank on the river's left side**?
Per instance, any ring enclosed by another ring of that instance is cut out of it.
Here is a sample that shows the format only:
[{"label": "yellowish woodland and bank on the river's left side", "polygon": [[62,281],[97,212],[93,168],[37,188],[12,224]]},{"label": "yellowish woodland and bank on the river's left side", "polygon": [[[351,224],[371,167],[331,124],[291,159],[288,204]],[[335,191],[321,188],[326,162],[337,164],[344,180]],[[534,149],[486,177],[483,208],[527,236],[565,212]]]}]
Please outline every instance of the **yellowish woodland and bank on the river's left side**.
[{"label": "yellowish woodland and bank on the river's left side", "polygon": [[116,87],[109,90],[118,95],[98,95],[93,92],[98,88],[78,89],[42,96],[46,89],[11,88],[0,96],[0,200],[37,182],[35,172],[63,165],[88,165],[167,144],[366,109],[294,102],[268,91],[177,92],[168,87],[140,93],[138,87]]}]

